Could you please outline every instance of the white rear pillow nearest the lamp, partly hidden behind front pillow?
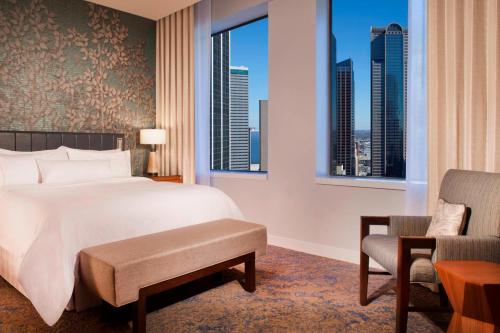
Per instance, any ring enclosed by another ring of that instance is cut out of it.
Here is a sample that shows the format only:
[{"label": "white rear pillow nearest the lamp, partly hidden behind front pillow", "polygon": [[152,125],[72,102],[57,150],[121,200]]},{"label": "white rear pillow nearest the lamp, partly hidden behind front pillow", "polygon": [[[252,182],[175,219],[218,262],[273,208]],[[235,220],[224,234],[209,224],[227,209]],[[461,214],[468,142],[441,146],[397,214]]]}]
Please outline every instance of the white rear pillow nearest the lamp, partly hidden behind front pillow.
[{"label": "white rear pillow nearest the lamp, partly hidden behind front pillow", "polygon": [[130,162],[130,150],[127,151],[86,151],[68,150],[70,160],[109,160],[111,162],[111,173],[113,177],[131,177],[132,165]]}]

